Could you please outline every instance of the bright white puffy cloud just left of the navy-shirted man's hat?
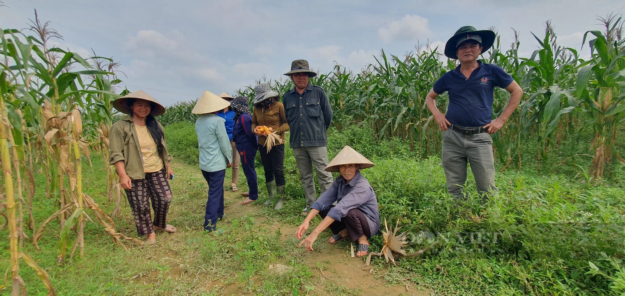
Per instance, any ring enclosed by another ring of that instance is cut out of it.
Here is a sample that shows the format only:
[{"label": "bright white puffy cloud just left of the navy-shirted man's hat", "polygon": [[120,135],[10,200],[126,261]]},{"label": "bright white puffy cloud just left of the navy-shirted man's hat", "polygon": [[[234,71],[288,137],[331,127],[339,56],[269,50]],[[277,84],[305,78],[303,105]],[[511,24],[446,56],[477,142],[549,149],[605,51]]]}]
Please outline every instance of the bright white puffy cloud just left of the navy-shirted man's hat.
[{"label": "bright white puffy cloud just left of the navy-shirted man's hat", "polygon": [[377,36],[385,43],[400,41],[416,41],[419,37],[431,34],[427,19],[416,14],[406,15],[399,21],[392,21],[377,30]]}]

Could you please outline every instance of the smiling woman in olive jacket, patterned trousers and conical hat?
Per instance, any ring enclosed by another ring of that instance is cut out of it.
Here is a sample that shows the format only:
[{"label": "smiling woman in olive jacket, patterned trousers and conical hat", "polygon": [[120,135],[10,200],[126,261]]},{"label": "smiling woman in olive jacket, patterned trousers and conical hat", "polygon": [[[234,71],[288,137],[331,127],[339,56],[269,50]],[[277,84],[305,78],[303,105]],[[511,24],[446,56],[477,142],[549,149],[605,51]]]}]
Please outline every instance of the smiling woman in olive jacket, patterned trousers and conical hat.
[{"label": "smiling woman in olive jacket, patterned trousers and conical hat", "polygon": [[163,127],[154,119],[165,112],[165,107],[144,91],[120,97],[113,106],[129,115],[111,127],[109,163],[115,165],[121,187],[126,190],[137,234],[147,234],[148,243],[154,244],[154,229],[176,231],[176,227],[166,224],[171,203],[168,179],[174,176],[169,165],[171,155],[167,153]]}]

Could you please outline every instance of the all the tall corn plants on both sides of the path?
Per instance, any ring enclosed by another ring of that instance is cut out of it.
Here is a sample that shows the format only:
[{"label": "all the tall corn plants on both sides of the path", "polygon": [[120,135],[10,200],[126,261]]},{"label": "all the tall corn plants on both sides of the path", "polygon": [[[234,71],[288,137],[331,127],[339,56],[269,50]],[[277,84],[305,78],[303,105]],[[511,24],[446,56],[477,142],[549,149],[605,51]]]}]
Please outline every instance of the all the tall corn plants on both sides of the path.
[{"label": "all the tall corn plants on both sides of the path", "polygon": [[[524,97],[504,128],[493,137],[499,160],[506,168],[521,170],[522,156],[538,164],[551,157],[552,149],[562,142],[571,145],[570,159],[577,154],[576,139],[582,132],[592,136],[592,178],[601,179],[611,165],[625,162],[616,149],[616,137],[625,112],[625,39],[621,17],[599,19],[602,31],[587,31],[584,46],[590,59],[582,59],[576,49],[557,45],[549,22],[539,49],[530,57],[519,57],[519,41],[509,49],[496,44],[484,61],[502,67],[519,82]],[[108,166],[109,202],[115,209],[108,215],[84,193],[82,172],[95,154],[108,159],[108,132],[114,121],[111,102],[128,90],[116,94],[121,80],[113,59],[93,53],[81,57],[75,52],[50,48],[49,41],[61,38],[37,17],[29,30],[0,29],[0,162],[2,182],[0,211],[7,221],[11,252],[12,295],[24,291],[19,260],[23,260],[56,295],[46,271],[36,258],[22,252],[24,244],[36,249],[42,236],[58,236],[59,263],[82,255],[84,227],[92,222],[104,227],[115,244],[143,244],[116,231],[123,192],[114,168]],[[29,33],[29,34],[27,34]],[[332,72],[319,74],[312,84],[324,87],[334,109],[334,126],[369,122],[378,137],[398,137],[422,155],[438,152],[441,140],[436,124],[431,124],[425,98],[436,80],[454,69],[456,61],[439,52],[418,47],[405,56],[382,51],[376,63],[361,72],[346,71],[336,65]],[[292,89],[291,81],[269,81],[280,94]],[[239,89],[237,95],[253,97],[253,87]],[[495,93],[493,117],[507,103],[502,89]],[[446,109],[447,97],[439,96],[439,109]],[[194,102],[179,102],[159,117],[163,125],[194,121]],[[537,149],[522,149],[522,143],[535,141]],[[45,188],[37,189],[35,174],[46,176]],[[55,212],[44,221],[34,220],[32,201],[36,190],[56,201]],[[6,214],[5,214],[6,213]],[[57,220],[58,229],[46,229]],[[78,253],[76,252],[78,250]]]}]

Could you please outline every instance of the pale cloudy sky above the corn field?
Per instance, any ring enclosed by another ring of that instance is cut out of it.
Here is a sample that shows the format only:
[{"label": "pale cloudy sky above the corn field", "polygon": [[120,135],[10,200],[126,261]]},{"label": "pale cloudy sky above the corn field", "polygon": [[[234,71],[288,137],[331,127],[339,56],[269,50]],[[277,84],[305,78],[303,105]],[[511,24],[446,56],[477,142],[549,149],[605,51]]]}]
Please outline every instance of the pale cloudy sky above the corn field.
[{"label": "pale cloudy sky above the corn field", "polygon": [[[461,26],[497,27],[502,44],[521,34],[529,56],[551,20],[558,41],[581,47],[584,32],[601,29],[596,16],[625,12],[625,1],[88,1],[2,0],[0,28],[50,21],[59,47],[82,56],[93,49],[121,62],[130,91],[144,89],[164,104],[281,79],[294,59],[321,72],[334,63],[359,71],[385,52],[444,42]],[[26,32],[26,31],[25,31]],[[587,46],[583,49],[587,52]],[[586,53],[587,55],[587,53]]]}]

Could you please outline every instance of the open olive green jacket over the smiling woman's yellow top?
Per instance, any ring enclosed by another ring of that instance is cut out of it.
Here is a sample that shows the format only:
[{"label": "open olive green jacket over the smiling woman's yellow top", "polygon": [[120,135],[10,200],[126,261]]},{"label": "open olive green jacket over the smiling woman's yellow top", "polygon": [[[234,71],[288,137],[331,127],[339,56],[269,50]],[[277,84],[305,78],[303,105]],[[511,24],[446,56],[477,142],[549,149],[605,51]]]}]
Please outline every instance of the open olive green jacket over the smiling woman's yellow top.
[{"label": "open olive green jacket over the smiling woman's yellow top", "polygon": [[[159,123],[161,129],[163,127]],[[167,153],[167,145],[163,139],[165,147],[161,159],[167,167],[171,161],[171,155]],[[119,160],[124,160],[124,168],[126,174],[131,180],[146,179],[143,172],[143,153],[137,137],[137,131],[134,129],[134,122],[131,116],[126,116],[115,122],[109,132],[109,164],[115,164]],[[118,172],[119,174],[119,172]]]}]

